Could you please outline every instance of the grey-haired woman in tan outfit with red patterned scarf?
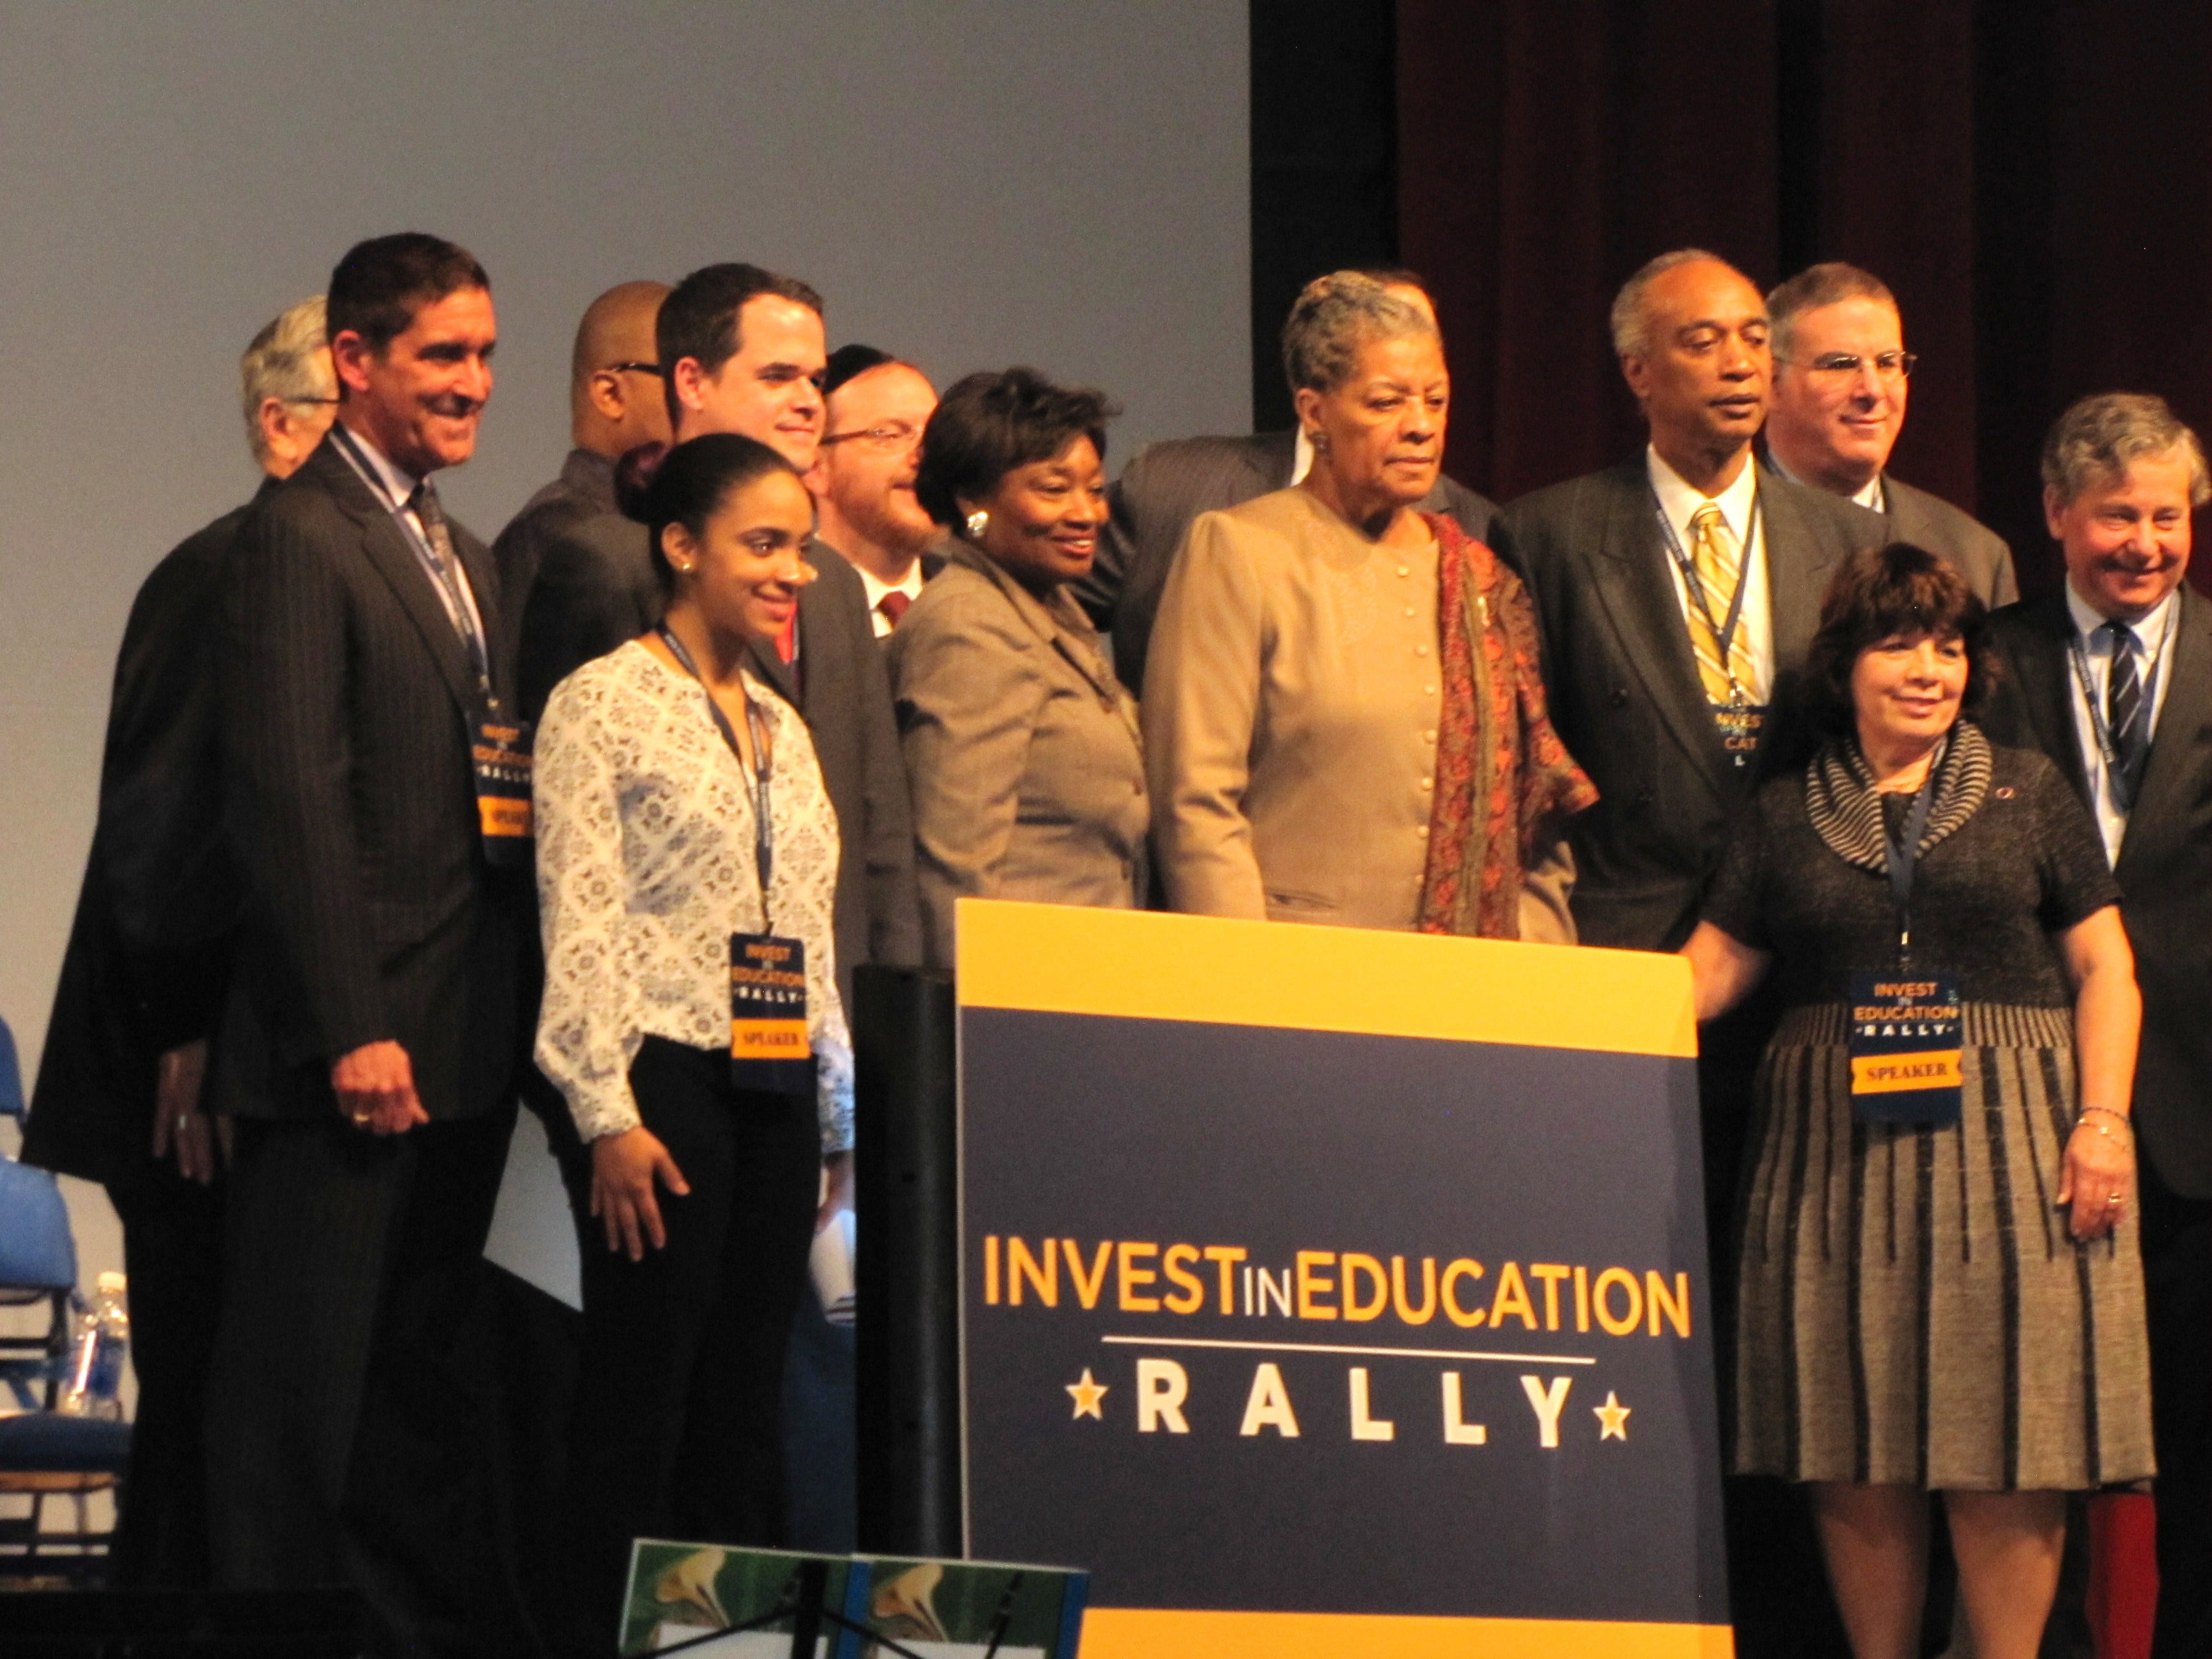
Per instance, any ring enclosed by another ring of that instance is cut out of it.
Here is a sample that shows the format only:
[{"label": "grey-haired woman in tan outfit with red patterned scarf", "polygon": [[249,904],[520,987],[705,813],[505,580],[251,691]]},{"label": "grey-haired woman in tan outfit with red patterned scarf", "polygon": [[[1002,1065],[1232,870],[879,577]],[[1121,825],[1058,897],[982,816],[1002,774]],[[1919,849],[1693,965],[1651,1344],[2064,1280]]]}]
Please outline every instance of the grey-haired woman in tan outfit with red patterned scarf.
[{"label": "grey-haired woman in tan outfit with red patterned scarf", "polygon": [[1371,276],[1321,276],[1283,365],[1312,469],[1199,515],[1152,633],[1168,902],[1571,945],[1562,827],[1597,790],[1544,712],[1528,595],[1416,511],[1444,456],[1436,321]]}]

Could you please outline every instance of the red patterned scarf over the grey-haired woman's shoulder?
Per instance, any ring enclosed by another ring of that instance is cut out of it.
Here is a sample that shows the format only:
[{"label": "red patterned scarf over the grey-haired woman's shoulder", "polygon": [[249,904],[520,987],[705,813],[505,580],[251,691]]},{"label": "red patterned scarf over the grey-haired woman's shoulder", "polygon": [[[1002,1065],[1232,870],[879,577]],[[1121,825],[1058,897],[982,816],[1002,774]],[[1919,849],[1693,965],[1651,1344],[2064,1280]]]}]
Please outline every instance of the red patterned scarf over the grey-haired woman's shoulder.
[{"label": "red patterned scarf over the grey-haired woman's shoulder", "polygon": [[1438,546],[1444,710],[1418,925],[1422,933],[1520,938],[1522,872],[1595,805],[1597,785],[1544,712],[1535,615],[1520,577],[1451,518],[1422,518]]}]

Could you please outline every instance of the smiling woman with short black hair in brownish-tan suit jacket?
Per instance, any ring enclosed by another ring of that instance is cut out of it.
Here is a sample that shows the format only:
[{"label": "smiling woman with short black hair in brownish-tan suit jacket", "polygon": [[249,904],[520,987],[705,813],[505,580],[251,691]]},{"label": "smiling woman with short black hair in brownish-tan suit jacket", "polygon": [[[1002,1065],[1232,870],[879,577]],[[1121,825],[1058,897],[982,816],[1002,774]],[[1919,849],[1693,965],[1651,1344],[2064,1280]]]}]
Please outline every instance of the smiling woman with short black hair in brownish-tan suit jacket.
[{"label": "smiling woman with short black hair in brownish-tan suit jacket", "polygon": [[922,434],[914,489],[953,531],[891,633],[931,967],[953,900],[1133,909],[1146,889],[1137,710],[1066,584],[1106,526],[1097,392],[971,374]]}]

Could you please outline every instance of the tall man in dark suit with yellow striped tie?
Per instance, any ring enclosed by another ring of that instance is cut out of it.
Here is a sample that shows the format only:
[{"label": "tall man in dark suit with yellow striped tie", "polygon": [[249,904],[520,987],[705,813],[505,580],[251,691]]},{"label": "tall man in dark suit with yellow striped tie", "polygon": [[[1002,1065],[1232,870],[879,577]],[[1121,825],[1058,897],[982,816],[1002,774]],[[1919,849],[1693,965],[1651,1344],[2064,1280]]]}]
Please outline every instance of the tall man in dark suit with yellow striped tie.
[{"label": "tall man in dark suit with yellow striped tie", "polygon": [[[1734,265],[1699,248],[1659,254],[1613,301],[1613,345],[1650,429],[1644,453],[1524,495],[1498,535],[1535,597],[1553,726],[1599,792],[1568,827],[1577,933],[1672,951],[1730,823],[1798,743],[1798,681],[1829,573],[1887,535],[1876,513],[1756,467],[1774,365],[1765,301]],[[1736,1183],[1776,1013],[1750,998],[1699,1035],[1723,1400]],[[1752,1486],[1728,1493],[1741,1650],[1820,1652],[1805,1608],[1823,1606],[1825,1579],[1803,1504],[1772,1482]]]}]

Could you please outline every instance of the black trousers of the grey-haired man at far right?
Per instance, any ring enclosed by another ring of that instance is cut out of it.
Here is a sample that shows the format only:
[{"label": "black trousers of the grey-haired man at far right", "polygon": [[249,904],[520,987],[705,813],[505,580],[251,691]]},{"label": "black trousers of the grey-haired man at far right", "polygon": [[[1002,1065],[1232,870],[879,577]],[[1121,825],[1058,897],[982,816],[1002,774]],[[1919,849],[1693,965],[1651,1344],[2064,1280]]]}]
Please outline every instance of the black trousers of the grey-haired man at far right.
[{"label": "black trousers of the grey-haired man at far right", "polygon": [[2159,1453],[2159,1621],[2152,1659],[2212,1655],[2212,1201],[2183,1199],[2150,1161],[2143,1301],[2150,1325],[2150,1431]]}]

